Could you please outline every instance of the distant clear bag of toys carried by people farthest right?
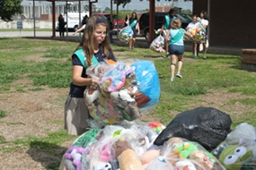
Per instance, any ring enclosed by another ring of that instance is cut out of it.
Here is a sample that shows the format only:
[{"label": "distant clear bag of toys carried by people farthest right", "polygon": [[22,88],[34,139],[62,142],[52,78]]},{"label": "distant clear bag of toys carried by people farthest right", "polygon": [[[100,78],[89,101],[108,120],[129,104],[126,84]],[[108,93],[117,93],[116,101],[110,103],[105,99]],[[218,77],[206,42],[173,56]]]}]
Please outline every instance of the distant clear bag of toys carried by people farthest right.
[{"label": "distant clear bag of toys carried by people farthest right", "polygon": [[195,43],[201,43],[201,42],[205,41],[207,38],[207,32],[203,28],[203,26],[201,25],[200,22],[197,22],[195,24],[195,26],[193,28],[187,30],[187,32],[190,33],[190,35],[192,35],[193,37],[190,38],[190,37],[184,35],[185,40],[190,40]]}]

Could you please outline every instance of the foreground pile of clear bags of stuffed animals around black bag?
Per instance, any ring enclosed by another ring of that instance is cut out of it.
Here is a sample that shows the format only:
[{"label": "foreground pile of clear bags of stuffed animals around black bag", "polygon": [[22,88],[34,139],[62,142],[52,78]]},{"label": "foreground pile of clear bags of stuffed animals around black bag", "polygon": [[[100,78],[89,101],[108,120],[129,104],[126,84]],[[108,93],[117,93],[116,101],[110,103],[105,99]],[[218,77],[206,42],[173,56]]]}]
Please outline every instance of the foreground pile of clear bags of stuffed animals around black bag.
[{"label": "foreground pile of clear bags of stuffed animals around black bag", "polygon": [[[166,127],[123,121],[84,132],[66,150],[60,170],[255,170],[256,128],[241,123],[215,149],[173,136],[154,145]],[[172,132],[171,129],[169,129]],[[196,129],[194,135],[196,134]],[[200,134],[198,134],[200,135]],[[202,134],[202,136],[204,136]],[[207,140],[207,137],[206,139]]]}]

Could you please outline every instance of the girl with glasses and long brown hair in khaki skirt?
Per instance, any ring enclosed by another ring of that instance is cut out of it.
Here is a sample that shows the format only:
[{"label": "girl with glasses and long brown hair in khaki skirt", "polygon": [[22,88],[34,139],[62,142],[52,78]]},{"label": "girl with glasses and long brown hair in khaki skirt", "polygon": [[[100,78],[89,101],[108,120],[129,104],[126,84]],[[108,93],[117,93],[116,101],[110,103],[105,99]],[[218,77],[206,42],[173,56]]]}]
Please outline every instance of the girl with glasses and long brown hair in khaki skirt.
[{"label": "girl with glasses and long brown hair in khaki skirt", "polygon": [[84,89],[86,86],[96,89],[98,81],[87,77],[86,68],[108,59],[116,61],[107,33],[108,24],[102,17],[90,17],[84,36],[72,55],[72,82],[65,104],[65,129],[69,134],[81,135],[88,126],[86,119],[90,114],[84,102]]}]

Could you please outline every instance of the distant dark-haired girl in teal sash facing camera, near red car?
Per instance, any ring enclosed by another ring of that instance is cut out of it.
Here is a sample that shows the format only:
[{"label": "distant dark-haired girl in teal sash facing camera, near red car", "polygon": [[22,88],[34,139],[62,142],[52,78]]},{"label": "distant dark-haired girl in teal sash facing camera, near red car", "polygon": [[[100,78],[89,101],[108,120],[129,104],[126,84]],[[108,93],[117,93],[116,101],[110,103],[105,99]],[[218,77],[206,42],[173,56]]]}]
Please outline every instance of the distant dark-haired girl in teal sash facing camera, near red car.
[{"label": "distant dark-haired girl in teal sash facing camera, near red car", "polygon": [[137,34],[140,34],[139,25],[137,21],[137,13],[132,13],[131,18],[129,19],[129,26],[133,30],[133,38],[129,39],[128,41],[128,47],[129,50],[132,50],[134,48]]}]

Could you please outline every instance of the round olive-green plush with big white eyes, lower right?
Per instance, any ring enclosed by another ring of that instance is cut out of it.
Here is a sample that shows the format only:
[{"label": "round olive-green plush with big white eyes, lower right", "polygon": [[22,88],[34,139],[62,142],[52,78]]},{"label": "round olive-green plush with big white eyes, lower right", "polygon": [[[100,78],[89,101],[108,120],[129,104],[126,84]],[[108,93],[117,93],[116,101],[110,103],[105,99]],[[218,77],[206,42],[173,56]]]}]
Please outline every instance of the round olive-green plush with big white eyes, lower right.
[{"label": "round olive-green plush with big white eyes, lower right", "polygon": [[240,170],[242,166],[252,159],[252,151],[239,145],[226,147],[218,157],[219,162],[226,170]]}]

